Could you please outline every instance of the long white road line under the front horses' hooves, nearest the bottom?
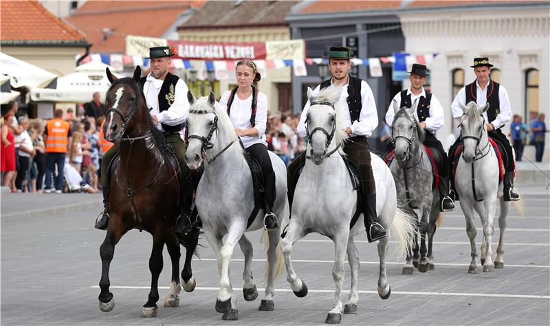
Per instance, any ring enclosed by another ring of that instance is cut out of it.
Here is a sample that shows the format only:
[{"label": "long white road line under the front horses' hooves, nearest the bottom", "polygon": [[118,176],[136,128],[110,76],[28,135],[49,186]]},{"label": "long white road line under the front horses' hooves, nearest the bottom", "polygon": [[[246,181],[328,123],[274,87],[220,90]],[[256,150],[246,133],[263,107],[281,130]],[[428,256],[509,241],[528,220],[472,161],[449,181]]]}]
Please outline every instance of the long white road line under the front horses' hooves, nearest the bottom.
[{"label": "long white road line under the front horses' hooves, nearest the bottom", "polygon": [[[89,288],[98,289],[99,286],[90,286]],[[110,286],[111,289],[123,289],[123,290],[148,290],[148,286]],[[159,286],[159,290],[168,290],[169,286]],[[238,289],[238,288],[236,288]],[[206,286],[197,286],[195,290],[203,291],[219,291],[219,288],[212,288]],[[264,291],[263,288],[258,288],[258,292]],[[275,292],[291,292],[291,289],[275,289]],[[307,292],[312,293],[333,293],[334,290],[320,290],[320,289],[308,289]],[[377,291],[371,290],[358,290],[362,294],[378,294]],[[349,293],[349,290],[342,290],[342,293]],[[500,294],[500,293],[461,293],[461,292],[414,292],[414,291],[393,291],[391,294],[404,294],[404,295],[437,295],[437,296],[489,296],[492,298],[519,298],[519,299],[550,299],[548,295],[529,295],[529,294]]]}]

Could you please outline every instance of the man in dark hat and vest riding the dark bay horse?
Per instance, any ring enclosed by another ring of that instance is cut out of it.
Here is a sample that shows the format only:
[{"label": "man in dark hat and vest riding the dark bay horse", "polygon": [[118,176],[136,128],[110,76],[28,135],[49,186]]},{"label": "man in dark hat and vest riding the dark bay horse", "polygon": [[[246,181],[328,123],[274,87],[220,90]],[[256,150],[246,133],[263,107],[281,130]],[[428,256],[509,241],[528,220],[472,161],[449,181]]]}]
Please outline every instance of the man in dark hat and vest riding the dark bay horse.
[{"label": "man in dark hat and vest riding the dark bay horse", "polygon": [[[175,231],[187,228],[190,221],[190,207],[192,202],[193,185],[191,175],[185,163],[185,143],[181,139],[180,132],[184,128],[184,121],[189,113],[187,101],[188,87],[177,75],[168,72],[170,56],[175,55],[170,47],[151,47],[149,58],[151,59],[151,73],[140,79],[142,89],[153,124],[162,131],[162,135],[172,146],[173,153],[179,164],[179,205],[181,213],[177,220]],[[111,113],[112,115],[112,113]],[[105,124],[109,128],[112,116],[107,116]],[[118,154],[118,146],[114,145],[104,155],[101,165],[101,183],[103,186],[104,210],[101,218],[96,222],[96,229],[107,230],[109,224],[109,194],[110,182],[108,176],[109,165]],[[177,168],[177,167],[176,167]]]}]

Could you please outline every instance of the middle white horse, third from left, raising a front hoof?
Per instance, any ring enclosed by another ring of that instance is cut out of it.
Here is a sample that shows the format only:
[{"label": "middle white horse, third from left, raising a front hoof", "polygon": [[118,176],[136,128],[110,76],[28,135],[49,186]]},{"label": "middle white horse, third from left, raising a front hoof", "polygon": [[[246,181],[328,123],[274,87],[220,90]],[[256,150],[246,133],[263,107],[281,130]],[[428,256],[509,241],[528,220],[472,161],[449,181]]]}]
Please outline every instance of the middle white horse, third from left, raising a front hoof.
[{"label": "middle white horse, third from left, raising a front hoof", "polygon": [[[292,245],[308,233],[317,232],[326,235],[335,244],[335,261],[332,271],[336,283],[335,302],[329,311],[325,323],[340,323],[342,319],[342,301],[340,292],[344,283],[344,259],[348,254],[351,267],[351,292],[344,313],[357,312],[359,270],[359,253],[353,242],[353,237],[365,234],[362,215],[350,229],[353,213],[358,208],[357,191],[353,189],[351,179],[338,147],[344,139],[341,126],[342,103],[337,102],[340,89],[333,86],[322,90],[315,98],[308,89],[311,102],[307,115],[309,144],[308,157],[303,172],[298,179],[292,215],[287,233],[281,242],[285,264],[287,266],[287,281],[298,297],[307,294],[307,286],[294,271],[292,266]],[[338,127],[337,127],[338,126]],[[332,130],[332,132],[331,132]],[[320,132],[319,132],[320,131]],[[336,137],[335,136],[336,133]],[[397,197],[393,176],[380,157],[371,154],[373,174],[377,185],[376,202],[378,222],[386,231],[392,227],[397,236],[401,250],[405,250],[412,241],[415,231],[412,218],[397,208]],[[388,232],[389,233],[389,232]],[[380,277],[378,279],[378,294],[382,299],[388,299],[391,288],[386,278],[386,248],[388,237],[378,242],[380,257]]]}]

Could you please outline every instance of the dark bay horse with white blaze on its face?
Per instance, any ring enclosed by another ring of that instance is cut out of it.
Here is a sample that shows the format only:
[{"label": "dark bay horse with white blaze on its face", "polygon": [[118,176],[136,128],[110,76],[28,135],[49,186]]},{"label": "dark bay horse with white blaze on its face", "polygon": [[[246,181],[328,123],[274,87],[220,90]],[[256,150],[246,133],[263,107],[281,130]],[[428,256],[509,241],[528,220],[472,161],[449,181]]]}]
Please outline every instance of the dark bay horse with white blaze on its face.
[{"label": "dark bay horse with white blaze on its face", "polygon": [[[107,68],[112,85],[107,91],[107,119],[105,139],[120,149],[119,159],[113,159],[111,174],[110,219],[105,240],[100,246],[102,272],[99,307],[104,312],[113,310],[115,301],[109,292],[109,266],[115,244],[131,229],[145,230],[153,235],[153,250],[149,259],[151,292],[143,306],[142,316],[157,315],[158,279],[162,271],[162,251],[168,248],[172,261],[172,283],[164,305],[179,305],[179,240],[173,231],[179,216],[179,182],[177,161],[167,148],[164,137],[149,117],[145,97],[137,86],[141,69],[137,67],[133,78],[118,79]],[[182,239],[186,247],[186,261],[181,277],[184,290],[195,289],[191,260],[198,241],[198,230]]]}]

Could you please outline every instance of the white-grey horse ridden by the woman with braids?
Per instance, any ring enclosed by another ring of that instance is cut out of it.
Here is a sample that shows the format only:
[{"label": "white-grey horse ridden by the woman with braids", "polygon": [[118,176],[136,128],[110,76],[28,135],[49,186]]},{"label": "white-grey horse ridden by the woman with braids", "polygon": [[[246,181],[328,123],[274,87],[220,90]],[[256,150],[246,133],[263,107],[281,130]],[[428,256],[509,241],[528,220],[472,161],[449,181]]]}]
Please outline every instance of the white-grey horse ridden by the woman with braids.
[{"label": "white-grey horse ridden by the woman with braids", "polygon": [[[244,148],[239,143],[231,120],[225,109],[216,102],[214,93],[195,99],[188,92],[190,112],[187,118],[188,147],[186,163],[190,169],[197,169],[204,163],[204,173],[197,187],[195,204],[203,222],[206,240],[217,255],[221,275],[216,311],[223,313],[224,320],[238,319],[236,297],[229,277],[229,263],[234,246],[239,242],[245,255],[243,294],[246,301],[258,296],[252,282],[252,244],[245,236],[246,231],[263,228],[265,209],[260,209],[254,222],[247,228],[248,218],[254,208],[252,174],[245,161]],[[276,175],[277,196],[273,211],[281,225],[287,205],[287,174],[285,163],[270,152]],[[265,235],[265,234],[264,234]],[[267,231],[267,286],[259,310],[274,310],[274,279],[282,268],[282,255],[278,250],[280,229]]]}]

